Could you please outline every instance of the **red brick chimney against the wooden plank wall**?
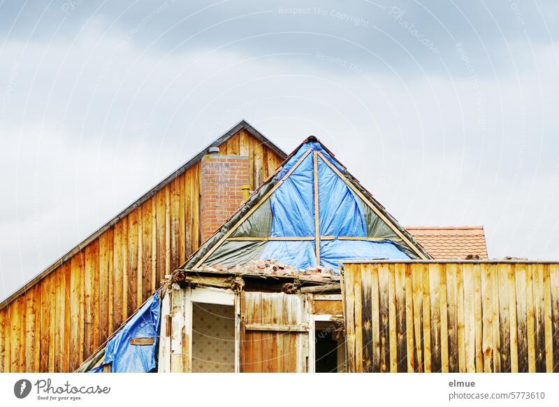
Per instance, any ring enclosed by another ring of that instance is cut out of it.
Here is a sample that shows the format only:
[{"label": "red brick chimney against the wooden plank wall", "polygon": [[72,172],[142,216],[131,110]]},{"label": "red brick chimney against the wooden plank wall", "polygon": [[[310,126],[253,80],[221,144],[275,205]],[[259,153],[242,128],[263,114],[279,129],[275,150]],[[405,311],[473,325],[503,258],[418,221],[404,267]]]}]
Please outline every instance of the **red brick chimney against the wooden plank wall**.
[{"label": "red brick chimney against the wooden plank wall", "polygon": [[205,242],[239,208],[242,187],[249,183],[249,159],[219,155],[216,148],[202,159],[200,229]]}]

